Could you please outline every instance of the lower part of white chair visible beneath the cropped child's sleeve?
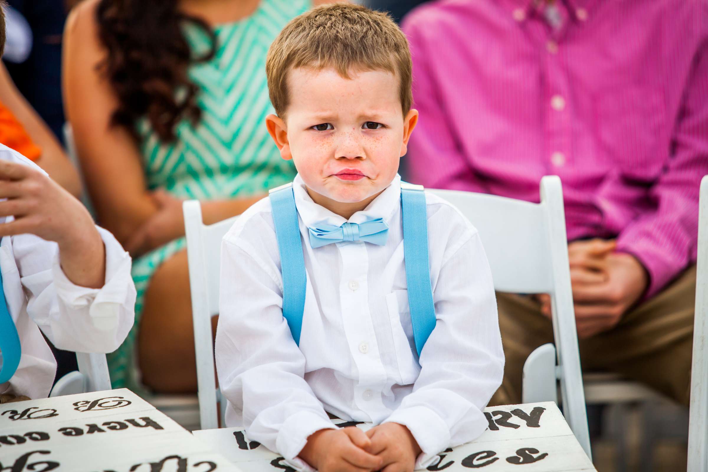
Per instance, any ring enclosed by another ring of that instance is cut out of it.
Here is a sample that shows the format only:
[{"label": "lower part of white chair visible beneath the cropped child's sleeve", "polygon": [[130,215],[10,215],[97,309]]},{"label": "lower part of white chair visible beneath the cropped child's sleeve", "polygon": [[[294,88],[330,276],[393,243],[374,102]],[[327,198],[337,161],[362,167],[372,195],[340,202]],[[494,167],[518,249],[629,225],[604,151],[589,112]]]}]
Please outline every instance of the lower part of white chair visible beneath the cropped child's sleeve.
[{"label": "lower part of white chair visible beneath the cropped child's sleeve", "polygon": [[110,390],[105,354],[76,352],[76,361],[79,363],[79,370],[69,372],[57,380],[49,396]]}]

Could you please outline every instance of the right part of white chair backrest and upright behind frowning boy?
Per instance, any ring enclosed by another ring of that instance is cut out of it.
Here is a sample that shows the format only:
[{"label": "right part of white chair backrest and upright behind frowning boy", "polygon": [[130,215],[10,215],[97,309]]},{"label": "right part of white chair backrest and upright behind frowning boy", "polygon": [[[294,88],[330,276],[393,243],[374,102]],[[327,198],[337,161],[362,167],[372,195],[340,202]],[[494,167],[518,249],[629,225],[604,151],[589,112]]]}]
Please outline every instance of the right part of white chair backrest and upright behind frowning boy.
[{"label": "right part of white chair backrest and upright behind frowning boy", "polygon": [[550,294],[563,413],[589,457],[560,178],[547,175],[541,179],[540,203],[459,190],[427,190],[455,205],[479,231],[496,290]]}]

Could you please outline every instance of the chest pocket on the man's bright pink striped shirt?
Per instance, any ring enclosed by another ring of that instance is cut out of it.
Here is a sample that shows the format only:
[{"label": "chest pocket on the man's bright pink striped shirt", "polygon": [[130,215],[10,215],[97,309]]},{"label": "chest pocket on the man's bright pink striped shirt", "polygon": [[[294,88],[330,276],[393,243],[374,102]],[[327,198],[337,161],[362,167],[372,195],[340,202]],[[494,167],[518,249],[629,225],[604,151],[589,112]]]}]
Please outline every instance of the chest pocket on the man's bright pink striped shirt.
[{"label": "chest pocket on the man's bright pink striped shirt", "polygon": [[601,91],[595,99],[595,128],[612,168],[640,182],[658,178],[668,151],[660,90],[631,84]]}]

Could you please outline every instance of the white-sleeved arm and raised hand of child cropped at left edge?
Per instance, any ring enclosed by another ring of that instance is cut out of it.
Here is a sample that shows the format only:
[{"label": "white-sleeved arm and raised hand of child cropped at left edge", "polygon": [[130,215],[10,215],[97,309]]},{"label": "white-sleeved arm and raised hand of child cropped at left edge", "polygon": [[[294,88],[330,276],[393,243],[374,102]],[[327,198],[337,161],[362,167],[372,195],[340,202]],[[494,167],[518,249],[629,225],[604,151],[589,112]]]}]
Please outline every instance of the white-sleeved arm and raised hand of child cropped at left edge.
[{"label": "white-sleeved arm and raised hand of child cropped at left edge", "polygon": [[0,236],[12,238],[4,254],[14,259],[7,267],[18,267],[28,314],[60,349],[115,350],[135,317],[130,257],[79,200],[33,163],[9,157],[0,159],[0,197],[8,199],[0,215],[14,220],[0,224]]}]

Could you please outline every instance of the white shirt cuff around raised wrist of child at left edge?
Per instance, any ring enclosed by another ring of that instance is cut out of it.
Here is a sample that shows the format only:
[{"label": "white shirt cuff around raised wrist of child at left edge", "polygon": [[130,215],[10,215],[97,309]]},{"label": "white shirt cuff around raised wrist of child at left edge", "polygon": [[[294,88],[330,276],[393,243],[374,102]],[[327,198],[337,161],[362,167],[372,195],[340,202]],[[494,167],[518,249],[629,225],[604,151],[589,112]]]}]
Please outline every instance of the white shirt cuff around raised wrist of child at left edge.
[{"label": "white shirt cuff around raised wrist of child at left edge", "polygon": [[132,284],[130,277],[131,258],[120,246],[113,234],[96,226],[105,247],[105,282],[100,289],[90,289],[74,284],[62,270],[57,251],[52,264],[57,296],[69,308],[89,306],[93,326],[98,330],[113,330],[118,326],[119,313]]}]

